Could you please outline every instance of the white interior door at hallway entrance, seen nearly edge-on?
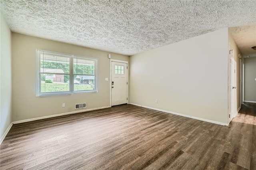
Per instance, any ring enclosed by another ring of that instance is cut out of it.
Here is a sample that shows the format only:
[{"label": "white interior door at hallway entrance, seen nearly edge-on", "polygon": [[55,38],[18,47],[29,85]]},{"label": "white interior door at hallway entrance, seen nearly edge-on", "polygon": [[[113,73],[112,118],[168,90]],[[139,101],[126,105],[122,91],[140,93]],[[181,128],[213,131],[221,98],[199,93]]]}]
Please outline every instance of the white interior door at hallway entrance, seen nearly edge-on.
[{"label": "white interior door at hallway entrance, seen nearly edge-on", "polygon": [[236,111],[236,70],[234,67],[234,51],[230,50],[230,55],[229,55],[229,76],[228,76],[228,82],[229,82],[229,87],[228,87],[228,92],[229,92],[229,123],[233,119]]}]

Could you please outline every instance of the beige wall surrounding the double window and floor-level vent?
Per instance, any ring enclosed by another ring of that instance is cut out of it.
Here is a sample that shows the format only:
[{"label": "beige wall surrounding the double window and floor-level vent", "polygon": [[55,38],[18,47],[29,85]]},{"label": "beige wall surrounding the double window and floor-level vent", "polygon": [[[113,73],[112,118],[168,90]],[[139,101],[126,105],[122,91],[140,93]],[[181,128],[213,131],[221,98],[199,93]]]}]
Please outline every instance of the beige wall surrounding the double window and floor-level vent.
[{"label": "beige wall surrounding the double window and floor-level vent", "polygon": [[[36,49],[98,58],[98,93],[36,97]],[[108,53],[12,33],[13,121],[77,111],[75,103],[87,102],[86,109],[110,106],[110,80],[105,81],[105,77],[110,79]],[[125,55],[110,54],[112,59],[129,60]]]}]

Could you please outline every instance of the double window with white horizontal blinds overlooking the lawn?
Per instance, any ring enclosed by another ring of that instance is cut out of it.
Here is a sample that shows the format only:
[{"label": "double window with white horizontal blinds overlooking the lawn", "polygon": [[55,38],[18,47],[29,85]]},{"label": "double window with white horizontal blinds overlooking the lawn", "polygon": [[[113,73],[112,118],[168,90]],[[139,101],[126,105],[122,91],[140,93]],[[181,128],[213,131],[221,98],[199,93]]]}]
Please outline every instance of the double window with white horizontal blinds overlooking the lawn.
[{"label": "double window with white horizontal blinds overlooking the lawn", "polygon": [[36,96],[97,92],[98,59],[37,50]]}]

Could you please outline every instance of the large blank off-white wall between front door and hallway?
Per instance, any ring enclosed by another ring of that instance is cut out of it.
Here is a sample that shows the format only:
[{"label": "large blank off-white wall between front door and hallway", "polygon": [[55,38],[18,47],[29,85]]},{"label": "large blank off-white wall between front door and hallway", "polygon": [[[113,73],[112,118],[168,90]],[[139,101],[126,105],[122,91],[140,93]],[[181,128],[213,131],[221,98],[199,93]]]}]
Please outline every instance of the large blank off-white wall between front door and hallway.
[{"label": "large blank off-white wall between front door and hallway", "polygon": [[129,102],[226,124],[227,75],[225,28],[131,56]]}]

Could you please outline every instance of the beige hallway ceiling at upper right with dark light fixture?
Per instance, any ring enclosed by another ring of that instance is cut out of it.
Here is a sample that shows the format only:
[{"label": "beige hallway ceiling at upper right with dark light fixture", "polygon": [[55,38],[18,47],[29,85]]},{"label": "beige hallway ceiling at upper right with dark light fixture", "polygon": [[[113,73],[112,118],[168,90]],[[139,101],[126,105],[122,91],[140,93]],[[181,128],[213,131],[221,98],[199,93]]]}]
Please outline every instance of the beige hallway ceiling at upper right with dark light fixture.
[{"label": "beige hallway ceiling at upper right with dark light fixture", "polygon": [[256,26],[234,27],[230,32],[243,56],[256,54]]}]

